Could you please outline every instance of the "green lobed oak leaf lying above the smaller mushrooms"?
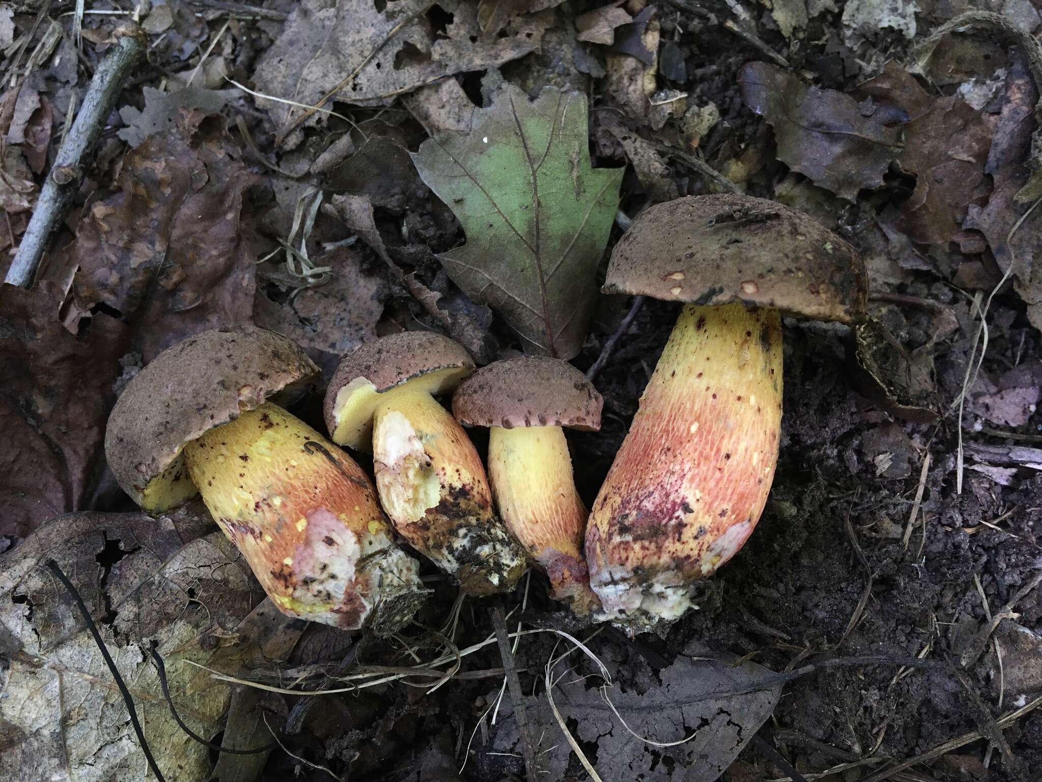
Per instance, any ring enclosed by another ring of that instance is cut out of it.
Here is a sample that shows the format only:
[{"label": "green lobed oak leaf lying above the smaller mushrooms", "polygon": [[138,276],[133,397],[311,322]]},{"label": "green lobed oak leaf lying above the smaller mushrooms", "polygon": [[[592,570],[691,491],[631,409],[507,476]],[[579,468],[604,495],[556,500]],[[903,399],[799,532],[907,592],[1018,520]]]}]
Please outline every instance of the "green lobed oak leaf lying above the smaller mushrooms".
[{"label": "green lobed oak leaf lying above the smaller mushrooms", "polygon": [[511,85],[474,112],[469,133],[413,155],[467,233],[439,255],[449,277],[496,309],[527,352],[562,359],[586,337],[623,173],[591,166],[587,120],[581,93],[546,88],[529,101]]}]

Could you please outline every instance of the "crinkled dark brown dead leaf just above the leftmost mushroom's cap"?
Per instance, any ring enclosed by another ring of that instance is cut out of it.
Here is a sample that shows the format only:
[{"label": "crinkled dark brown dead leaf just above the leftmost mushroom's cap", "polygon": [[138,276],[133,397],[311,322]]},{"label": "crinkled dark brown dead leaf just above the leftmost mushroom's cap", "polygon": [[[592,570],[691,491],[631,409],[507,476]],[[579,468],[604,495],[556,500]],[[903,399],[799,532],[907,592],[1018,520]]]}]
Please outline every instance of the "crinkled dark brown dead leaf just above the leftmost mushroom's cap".
[{"label": "crinkled dark brown dead leaf just above the leftmost mushroom's cap", "polygon": [[182,114],[131,151],[117,192],[83,212],[69,250],[80,309],[119,311],[146,362],[206,328],[248,322],[253,310],[240,217],[254,177],[201,120]]}]

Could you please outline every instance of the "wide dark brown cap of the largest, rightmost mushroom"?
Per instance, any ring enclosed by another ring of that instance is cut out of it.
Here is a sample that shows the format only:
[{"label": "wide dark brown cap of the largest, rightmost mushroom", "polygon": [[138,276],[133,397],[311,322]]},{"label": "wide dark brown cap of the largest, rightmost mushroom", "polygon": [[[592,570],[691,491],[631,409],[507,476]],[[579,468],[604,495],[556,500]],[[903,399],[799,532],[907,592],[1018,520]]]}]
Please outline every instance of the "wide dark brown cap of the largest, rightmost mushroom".
[{"label": "wide dark brown cap of the largest, rightmost mushroom", "polygon": [[764,198],[688,196],[634,221],[602,290],[849,323],[864,316],[868,275],[853,247],[808,215]]}]

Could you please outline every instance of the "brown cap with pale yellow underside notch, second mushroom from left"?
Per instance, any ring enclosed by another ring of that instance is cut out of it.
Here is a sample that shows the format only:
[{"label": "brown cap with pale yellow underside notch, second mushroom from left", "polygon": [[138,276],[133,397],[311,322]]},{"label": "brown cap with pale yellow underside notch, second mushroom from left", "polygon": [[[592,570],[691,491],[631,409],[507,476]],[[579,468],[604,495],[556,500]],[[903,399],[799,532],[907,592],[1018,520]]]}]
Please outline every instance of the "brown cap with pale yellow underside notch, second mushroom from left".
[{"label": "brown cap with pale yellow underside notch, second mushroom from left", "polygon": [[377,394],[420,378],[431,394],[447,394],[473,371],[466,348],[440,334],[380,337],[341,359],[326,390],[326,427],[339,445],[369,449]]}]

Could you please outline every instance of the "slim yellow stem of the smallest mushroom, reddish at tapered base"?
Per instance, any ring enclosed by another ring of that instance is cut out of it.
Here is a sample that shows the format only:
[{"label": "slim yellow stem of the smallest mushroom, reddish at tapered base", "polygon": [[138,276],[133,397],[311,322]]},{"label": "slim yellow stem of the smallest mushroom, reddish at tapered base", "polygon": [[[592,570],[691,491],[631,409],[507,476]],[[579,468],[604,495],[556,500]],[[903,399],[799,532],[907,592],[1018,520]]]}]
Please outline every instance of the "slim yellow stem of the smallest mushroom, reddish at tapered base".
[{"label": "slim yellow stem of the smallest mushroom, reddish at tapered base", "polygon": [[562,427],[491,426],[489,479],[506,529],[549,576],[551,596],[578,614],[599,609],[581,554],[589,512]]}]

